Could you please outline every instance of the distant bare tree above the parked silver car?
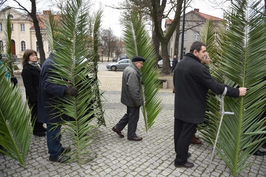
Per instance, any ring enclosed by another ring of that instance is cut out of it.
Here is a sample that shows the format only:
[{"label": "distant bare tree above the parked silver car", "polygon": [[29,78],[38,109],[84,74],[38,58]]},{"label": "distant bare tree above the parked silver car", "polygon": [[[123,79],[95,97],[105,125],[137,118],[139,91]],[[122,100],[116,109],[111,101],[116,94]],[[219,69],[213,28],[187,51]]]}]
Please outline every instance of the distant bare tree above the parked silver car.
[{"label": "distant bare tree above the parked silver car", "polygon": [[101,45],[103,49],[105,49],[103,51],[106,56],[108,56],[107,61],[109,62],[109,58],[114,51],[116,36],[114,35],[113,30],[109,27],[108,29],[101,29],[100,39]]}]

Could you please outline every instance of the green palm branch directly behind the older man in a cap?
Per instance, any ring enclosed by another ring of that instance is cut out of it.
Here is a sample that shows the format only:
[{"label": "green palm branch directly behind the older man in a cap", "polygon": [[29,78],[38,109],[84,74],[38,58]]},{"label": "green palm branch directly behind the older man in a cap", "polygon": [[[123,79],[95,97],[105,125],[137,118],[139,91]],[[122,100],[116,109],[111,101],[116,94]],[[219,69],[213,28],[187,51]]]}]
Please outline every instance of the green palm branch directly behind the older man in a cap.
[{"label": "green palm branch directly behind the older man in a cap", "polygon": [[155,66],[156,55],[148,31],[145,29],[141,16],[133,10],[130,17],[125,17],[122,22],[125,26],[123,42],[129,58],[135,55],[146,59],[140,70],[144,105],[141,107],[146,131],[155,123],[155,118],[162,109],[161,98],[158,95],[157,70]]}]

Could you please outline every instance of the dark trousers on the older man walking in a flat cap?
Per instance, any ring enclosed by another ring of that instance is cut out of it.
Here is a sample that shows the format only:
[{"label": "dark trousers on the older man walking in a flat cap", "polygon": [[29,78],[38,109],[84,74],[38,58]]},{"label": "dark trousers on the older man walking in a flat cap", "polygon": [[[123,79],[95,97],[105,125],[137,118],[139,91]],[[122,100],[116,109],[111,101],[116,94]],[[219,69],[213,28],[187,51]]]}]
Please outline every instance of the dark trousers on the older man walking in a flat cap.
[{"label": "dark trousers on the older man walking in a flat cap", "polygon": [[116,124],[118,130],[123,130],[128,124],[127,137],[136,137],[137,124],[140,118],[140,107],[127,106],[126,114]]}]

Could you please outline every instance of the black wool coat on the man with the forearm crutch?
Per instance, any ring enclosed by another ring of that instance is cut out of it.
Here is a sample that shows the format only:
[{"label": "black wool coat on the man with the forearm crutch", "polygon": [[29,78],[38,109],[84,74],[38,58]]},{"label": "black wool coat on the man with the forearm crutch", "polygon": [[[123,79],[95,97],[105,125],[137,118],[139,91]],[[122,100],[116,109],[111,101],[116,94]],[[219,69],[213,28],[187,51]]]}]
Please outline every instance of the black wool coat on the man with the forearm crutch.
[{"label": "black wool coat on the man with the forearm crutch", "polygon": [[195,55],[188,53],[180,60],[174,70],[175,86],[174,117],[189,123],[203,123],[206,109],[206,96],[210,89],[223,94],[227,87],[227,96],[238,97],[239,89],[218,83],[200,63]]}]

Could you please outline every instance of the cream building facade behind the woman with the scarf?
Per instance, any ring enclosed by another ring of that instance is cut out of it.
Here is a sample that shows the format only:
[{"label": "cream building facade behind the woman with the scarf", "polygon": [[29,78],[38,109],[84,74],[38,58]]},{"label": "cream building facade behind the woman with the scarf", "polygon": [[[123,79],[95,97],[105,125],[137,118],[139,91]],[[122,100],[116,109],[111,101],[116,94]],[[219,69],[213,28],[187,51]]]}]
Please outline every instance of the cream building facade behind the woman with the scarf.
[{"label": "cream building facade behind the woman with the scarf", "polygon": [[[14,9],[10,9],[10,17],[11,17],[11,53],[17,58],[22,58],[24,51],[26,49],[33,49],[37,51],[39,55],[39,47],[37,44],[37,38],[35,35],[35,29],[33,26],[32,19],[29,16],[26,16]],[[49,48],[47,40],[45,40],[45,27],[42,23],[43,16],[49,15],[49,11],[43,11],[43,15],[39,15],[39,26],[41,28],[43,47],[45,51],[46,58],[49,55]],[[5,25],[4,21],[7,18],[8,10],[5,8],[0,11],[0,46],[5,53],[5,45],[6,42],[4,40],[4,31]]]}]

